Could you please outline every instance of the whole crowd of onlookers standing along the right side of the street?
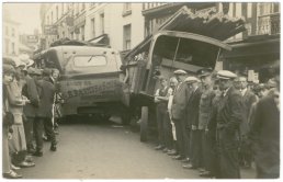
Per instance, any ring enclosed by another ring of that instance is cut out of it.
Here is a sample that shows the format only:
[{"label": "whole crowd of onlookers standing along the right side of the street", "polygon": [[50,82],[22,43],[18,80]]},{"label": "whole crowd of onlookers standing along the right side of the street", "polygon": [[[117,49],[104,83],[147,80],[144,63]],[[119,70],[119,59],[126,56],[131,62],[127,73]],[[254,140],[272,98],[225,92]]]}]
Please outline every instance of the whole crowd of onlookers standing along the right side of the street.
[{"label": "whole crowd of onlookers standing along the right side of the street", "polygon": [[257,178],[279,178],[280,77],[249,84],[247,77],[204,68],[194,76],[160,76],[156,91],[158,146],[201,177],[240,179],[254,162]]}]

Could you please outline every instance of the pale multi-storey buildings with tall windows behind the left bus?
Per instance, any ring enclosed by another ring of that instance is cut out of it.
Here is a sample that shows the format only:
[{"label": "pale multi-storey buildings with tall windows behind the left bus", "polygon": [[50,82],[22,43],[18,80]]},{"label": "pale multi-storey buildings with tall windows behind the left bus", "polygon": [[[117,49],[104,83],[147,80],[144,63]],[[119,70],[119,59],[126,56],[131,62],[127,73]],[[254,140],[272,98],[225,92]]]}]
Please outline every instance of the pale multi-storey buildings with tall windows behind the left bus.
[{"label": "pale multi-storey buildings with tall windows behind the left bus", "polygon": [[44,48],[54,41],[68,37],[93,43],[102,41],[118,50],[131,49],[144,38],[142,8],[142,3],[43,4]]}]

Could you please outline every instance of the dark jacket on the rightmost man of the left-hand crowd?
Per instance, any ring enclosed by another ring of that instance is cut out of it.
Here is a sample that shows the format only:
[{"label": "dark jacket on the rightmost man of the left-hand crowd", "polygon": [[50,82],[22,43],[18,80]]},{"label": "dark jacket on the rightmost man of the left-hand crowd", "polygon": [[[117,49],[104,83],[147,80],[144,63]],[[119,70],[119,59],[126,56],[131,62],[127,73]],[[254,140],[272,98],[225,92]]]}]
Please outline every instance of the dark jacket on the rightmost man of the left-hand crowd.
[{"label": "dark jacket on the rightmost man of the left-hand crowd", "polygon": [[37,116],[53,117],[55,87],[46,80],[38,81],[37,86],[39,88],[39,106],[37,110]]}]

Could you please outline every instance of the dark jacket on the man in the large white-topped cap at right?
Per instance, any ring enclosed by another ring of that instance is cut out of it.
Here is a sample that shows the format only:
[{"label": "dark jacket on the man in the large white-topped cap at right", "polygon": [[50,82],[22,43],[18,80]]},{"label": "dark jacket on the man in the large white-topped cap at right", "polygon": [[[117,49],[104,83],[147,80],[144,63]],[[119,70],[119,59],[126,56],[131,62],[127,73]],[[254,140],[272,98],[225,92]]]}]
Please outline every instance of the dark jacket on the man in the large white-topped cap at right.
[{"label": "dark jacket on the man in the large white-topped cap at right", "polygon": [[217,127],[225,129],[230,136],[239,132],[242,122],[242,95],[230,87],[225,96],[222,96],[217,109]]}]

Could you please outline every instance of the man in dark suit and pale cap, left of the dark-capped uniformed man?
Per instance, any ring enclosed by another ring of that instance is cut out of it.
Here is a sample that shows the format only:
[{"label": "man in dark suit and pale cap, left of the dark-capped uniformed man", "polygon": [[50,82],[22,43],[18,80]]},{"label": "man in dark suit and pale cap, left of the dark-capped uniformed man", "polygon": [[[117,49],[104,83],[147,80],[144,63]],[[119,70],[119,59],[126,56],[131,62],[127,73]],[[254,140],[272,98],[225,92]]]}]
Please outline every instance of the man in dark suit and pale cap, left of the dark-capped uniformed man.
[{"label": "man in dark suit and pale cap, left of the dark-capped uniformed man", "polygon": [[186,133],[190,135],[190,159],[191,163],[183,164],[184,169],[202,168],[201,159],[201,130],[199,129],[199,106],[202,95],[200,80],[196,77],[188,77],[185,82],[189,84],[192,93],[188,102]]}]

